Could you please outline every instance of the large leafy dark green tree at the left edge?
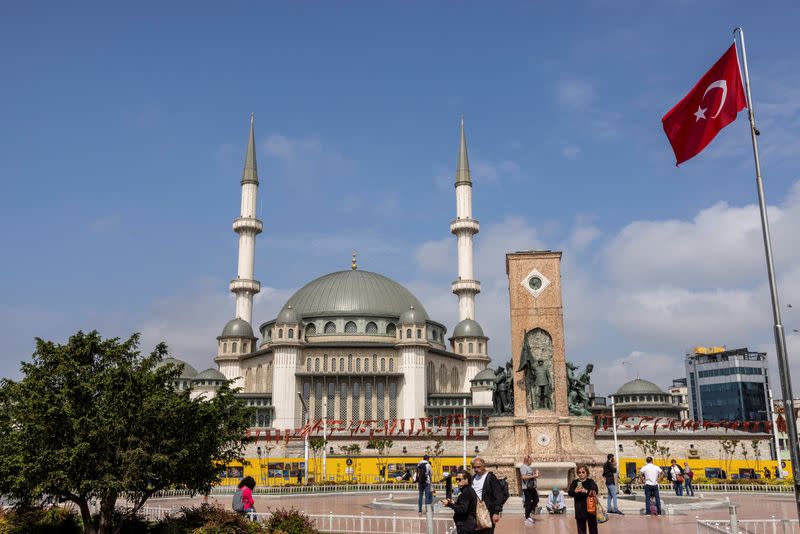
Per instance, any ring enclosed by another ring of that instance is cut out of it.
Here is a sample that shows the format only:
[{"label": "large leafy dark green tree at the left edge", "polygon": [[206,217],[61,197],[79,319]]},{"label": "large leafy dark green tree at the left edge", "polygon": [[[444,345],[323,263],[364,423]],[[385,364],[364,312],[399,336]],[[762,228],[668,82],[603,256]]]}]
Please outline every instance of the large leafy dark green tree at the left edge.
[{"label": "large leafy dark green tree at the left edge", "polygon": [[[220,466],[241,461],[251,410],[227,385],[211,399],[178,391],[180,366],[125,341],[78,332],[36,339],[19,382],[0,381],[0,494],[18,505],[71,501],[86,534],[118,531],[164,488],[210,491]],[[90,503],[99,505],[97,523]]]}]

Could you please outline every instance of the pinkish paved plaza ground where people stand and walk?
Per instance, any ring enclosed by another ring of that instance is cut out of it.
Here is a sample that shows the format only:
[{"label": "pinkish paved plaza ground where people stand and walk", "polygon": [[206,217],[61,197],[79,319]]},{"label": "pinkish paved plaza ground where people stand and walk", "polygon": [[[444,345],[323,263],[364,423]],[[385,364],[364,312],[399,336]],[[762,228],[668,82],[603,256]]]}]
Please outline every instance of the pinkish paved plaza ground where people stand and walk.
[{"label": "pinkish paved plaza ground where people stand and walk", "polygon": [[[373,502],[388,499],[388,492],[370,494],[348,494],[348,495],[321,495],[321,496],[264,496],[256,495],[256,509],[259,512],[266,512],[275,508],[296,508],[312,515],[329,514],[334,515],[359,515],[366,516],[387,516],[396,514],[398,517],[417,517],[415,510],[407,509],[375,509]],[[394,494],[398,500],[408,501],[411,494]],[[790,495],[776,494],[722,494],[708,493],[703,496],[704,501],[724,501],[730,497],[730,501],[737,505],[737,512],[740,519],[786,519],[795,518],[794,502]],[[571,500],[570,500],[571,501]],[[175,498],[175,499],[153,499],[148,501],[148,506],[159,507],[181,507],[195,506],[202,502],[202,498]],[[217,496],[209,498],[210,503],[216,503],[224,507],[230,506],[229,496]],[[569,502],[571,504],[571,502]],[[522,522],[522,506],[518,497],[512,496],[506,504],[506,512],[495,530],[497,534],[509,534],[512,532],[542,532],[542,533],[573,533],[575,532],[575,521],[571,515],[536,516],[536,524],[526,527]],[[667,534],[674,532],[694,533],[697,519],[727,519],[727,508],[717,507],[710,509],[696,509],[685,512],[678,512],[674,515],[661,517],[650,517],[639,515],[636,511],[637,505],[627,503],[625,516],[611,515],[608,523],[601,525],[600,529],[606,532],[631,532],[648,534]],[[436,517],[450,517],[449,510],[439,510]]]}]

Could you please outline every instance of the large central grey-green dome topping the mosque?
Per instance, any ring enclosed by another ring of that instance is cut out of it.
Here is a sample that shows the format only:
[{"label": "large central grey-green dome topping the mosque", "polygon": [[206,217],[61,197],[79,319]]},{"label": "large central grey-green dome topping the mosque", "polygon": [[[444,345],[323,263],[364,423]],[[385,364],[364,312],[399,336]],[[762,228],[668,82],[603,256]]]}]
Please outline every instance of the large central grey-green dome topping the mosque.
[{"label": "large central grey-green dome topping the mosque", "polygon": [[289,306],[303,318],[326,315],[400,317],[413,306],[422,321],[428,319],[425,307],[408,289],[383,275],[357,269],[312,280],[292,295],[278,317]]}]

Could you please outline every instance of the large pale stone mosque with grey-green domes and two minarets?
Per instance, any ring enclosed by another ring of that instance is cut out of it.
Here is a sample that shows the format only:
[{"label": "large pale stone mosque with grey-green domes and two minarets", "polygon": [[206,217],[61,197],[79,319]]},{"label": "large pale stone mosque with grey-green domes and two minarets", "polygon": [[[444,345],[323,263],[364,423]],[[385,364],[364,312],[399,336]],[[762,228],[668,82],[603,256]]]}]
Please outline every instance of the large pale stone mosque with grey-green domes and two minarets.
[{"label": "large pale stone mosque with grey-green domes and two minarets", "polygon": [[253,329],[258,166],[250,117],[241,188],[238,271],[230,282],[236,296],[234,318],[217,338],[218,369],[197,373],[184,364],[179,386],[213,395],[224,380],[241,388],[255,409],[253,426],[290,429],[321,418],[343,421],[397,419],[461,413],[488,415],[494,372],[489,338],[475,321],[480,282],[473,273],[472,178],[464,120],[460,124],[455,175],[456,218],[450,231],[458,243],[459,323],[447,327],[394,280],[357,267],[308,282],[283,305],[278,316]]}]

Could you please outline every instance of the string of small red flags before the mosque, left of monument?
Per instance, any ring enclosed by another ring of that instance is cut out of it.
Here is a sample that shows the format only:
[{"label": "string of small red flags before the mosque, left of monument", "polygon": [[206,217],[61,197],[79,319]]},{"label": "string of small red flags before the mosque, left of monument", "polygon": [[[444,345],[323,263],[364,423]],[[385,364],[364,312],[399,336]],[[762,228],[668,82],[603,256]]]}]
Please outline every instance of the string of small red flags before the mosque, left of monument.
[{"label": "string of small red flags before the mosque, left of monument", "polygon": [[[467,415],[467,436],[472,437],[475,431],[486,430],[484,426],[477,426],[475,423],[481,423],[483,418],[478,415]],[[254,429],[248,430],[245,434],[246,437],[258,441],[275,441],[280,443],[281,440],[289,443],[291,439],[305,439],[308,436],[318,436],[323,431],[327,431],[326,438],[334,432],[343,433],[350,432],[350,436],[360,436],[362,434],[368,435],[370,439],[375,436],[419,436],[420,434],[427,434],[429,432],[441,433],[443,430],[444,438],[461,438],[464,430],[465,419],[463,415],[441,415],[433,417],[418,417],[414,419],[393,419],[391,421],[384,420],[378,421],[377,419],[360,419],[343,421],[340,419],[328,419],[323,422],[322,419],[312,421],[301,428],[275,430],[275,429]]]}]

